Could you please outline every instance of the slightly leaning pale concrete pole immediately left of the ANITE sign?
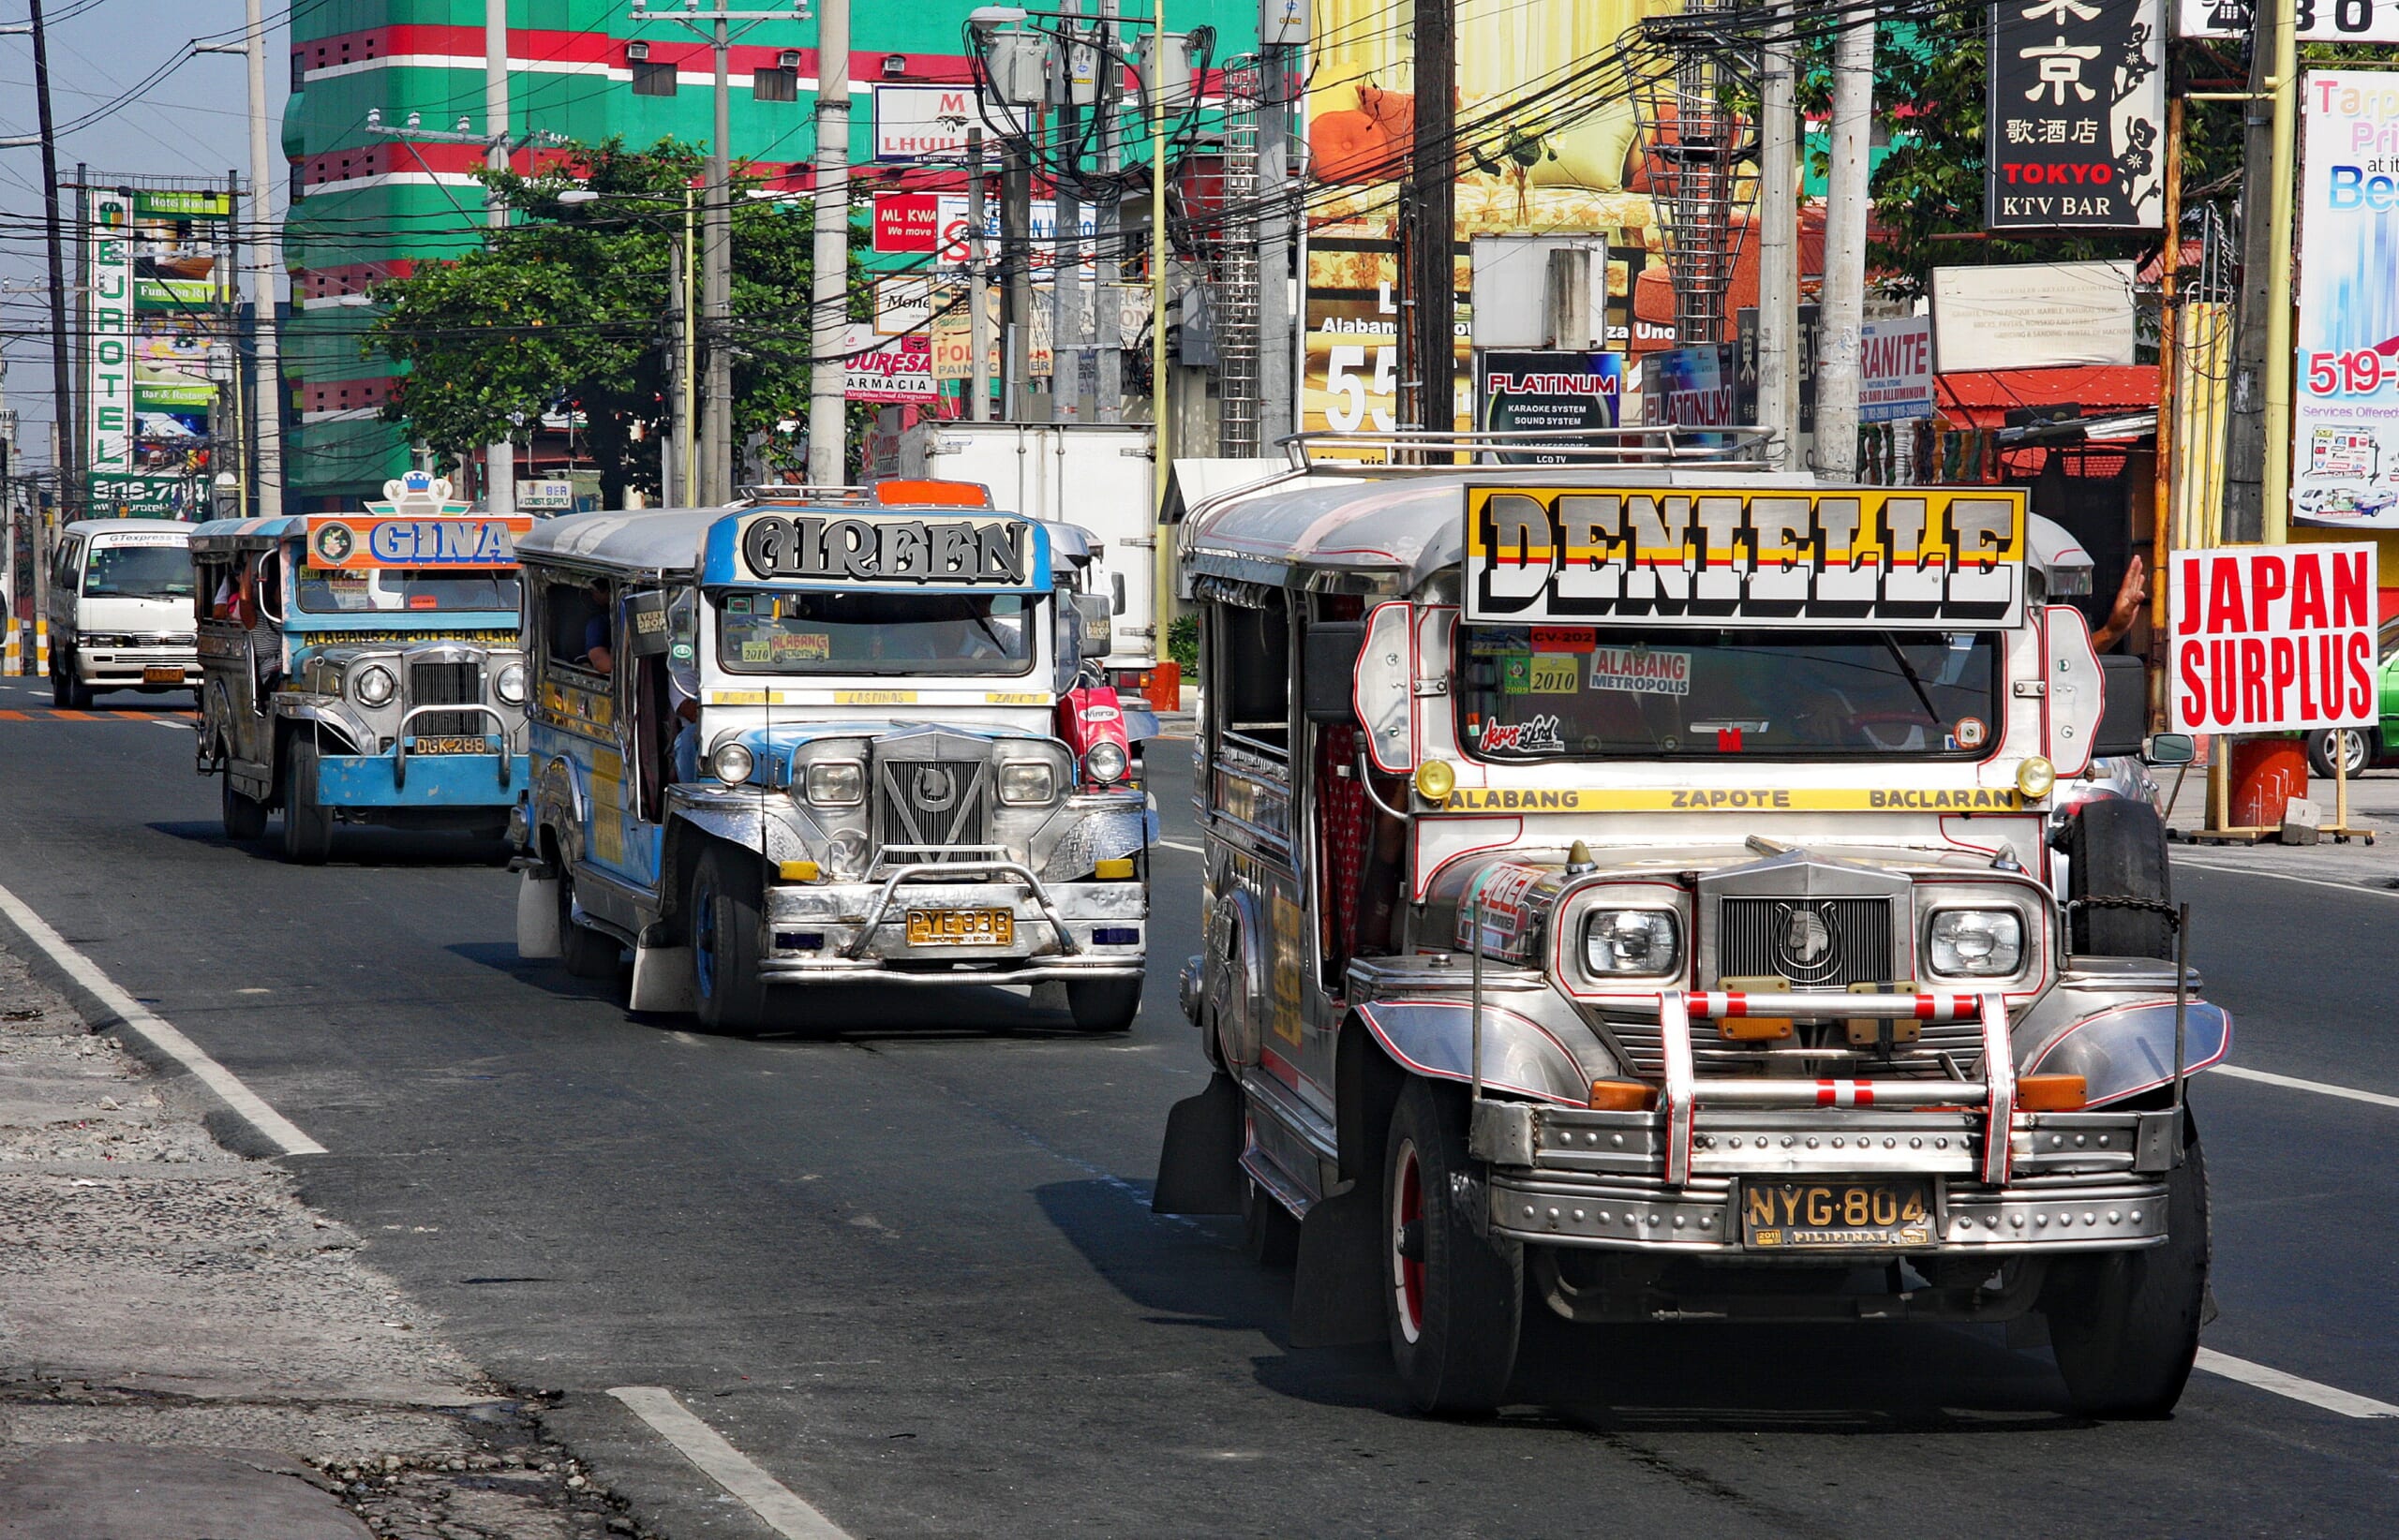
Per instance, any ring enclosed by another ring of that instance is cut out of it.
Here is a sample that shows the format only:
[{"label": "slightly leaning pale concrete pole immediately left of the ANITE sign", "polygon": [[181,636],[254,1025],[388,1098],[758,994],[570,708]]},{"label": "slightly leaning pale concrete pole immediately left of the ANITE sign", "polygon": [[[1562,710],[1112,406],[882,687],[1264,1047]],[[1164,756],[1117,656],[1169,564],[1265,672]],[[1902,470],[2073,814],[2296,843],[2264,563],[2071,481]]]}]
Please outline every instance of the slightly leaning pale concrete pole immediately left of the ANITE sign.
[{"label": "slightly leaning pale concrete pole immediately left of the ANITE sign", "polygon": [[[1866,134],[1874,115],[1874,12],[1833,41],[1833,168],[1823,209],[1823,331],[1816,357],[1816,470],[1857,480],[1859,329],[1866,324]],[[1763,324],[1766,317],[1758,314]]]}]

